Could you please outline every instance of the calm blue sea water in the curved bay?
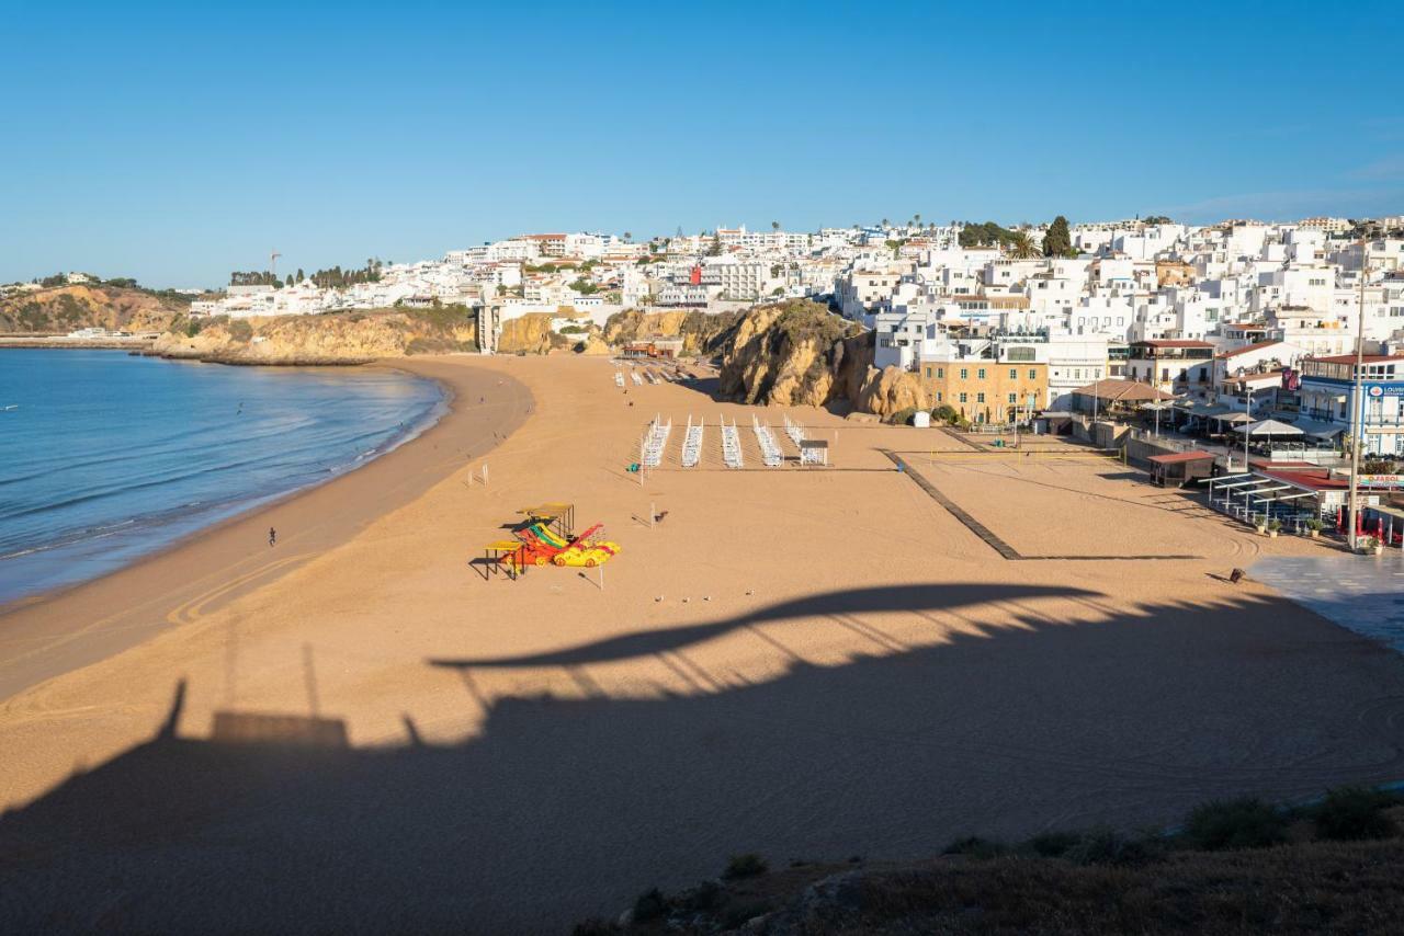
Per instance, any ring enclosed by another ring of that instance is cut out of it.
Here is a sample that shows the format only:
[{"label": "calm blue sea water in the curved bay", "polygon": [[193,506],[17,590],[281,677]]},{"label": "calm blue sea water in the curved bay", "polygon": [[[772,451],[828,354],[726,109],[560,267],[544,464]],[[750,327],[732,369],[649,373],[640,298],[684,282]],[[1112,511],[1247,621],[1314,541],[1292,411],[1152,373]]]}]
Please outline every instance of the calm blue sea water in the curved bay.
[{"label": "calm blue sea water in the curved bay", "polygon": [[0,603],[348,472],[442,408],[393,370],[0,349]]}]

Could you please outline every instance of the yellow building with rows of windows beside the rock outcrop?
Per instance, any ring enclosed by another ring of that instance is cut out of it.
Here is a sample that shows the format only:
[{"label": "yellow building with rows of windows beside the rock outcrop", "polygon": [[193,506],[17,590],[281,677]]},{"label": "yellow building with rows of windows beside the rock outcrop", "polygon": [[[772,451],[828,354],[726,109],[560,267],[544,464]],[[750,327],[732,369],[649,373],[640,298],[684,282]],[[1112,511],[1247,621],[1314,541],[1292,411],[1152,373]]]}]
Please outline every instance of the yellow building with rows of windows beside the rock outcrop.
[{"label": "yellow building with rows of windows beside the rock outcrop", "polygon": [[[1008,351],[1021,356],[1019,348]],[[935,406],[949,406],[972,422],[1012,422],[1043,408],[1049,368],[1038,361],[925,361],[921,382]]]}]

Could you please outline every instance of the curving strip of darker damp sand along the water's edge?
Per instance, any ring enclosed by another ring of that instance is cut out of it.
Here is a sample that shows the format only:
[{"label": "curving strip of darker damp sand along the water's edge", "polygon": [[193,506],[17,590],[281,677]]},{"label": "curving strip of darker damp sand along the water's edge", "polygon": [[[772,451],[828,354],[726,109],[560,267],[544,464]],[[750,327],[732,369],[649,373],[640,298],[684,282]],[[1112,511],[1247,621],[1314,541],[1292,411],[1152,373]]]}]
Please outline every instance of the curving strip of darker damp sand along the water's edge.
[{"label": "curving strip of darker damp sand along the water's edge", "polygon": [[[192,601],[211,609],[340,546],[465,457],[490,452],[498,445],[494,436],[511,435],[534,404],[524,385],[486,368],[445,365],[442,358],[388,358],[372,366],[438,385],[439,418],[323,483],[256,504],[97,578],[0,605],[0,700],[178,626],[177,612]],[[505,390],[507,399],[489,403],[486,420],[473,420],[477,411],[458,403],[468,392],[490,396],[489,387],[496,397]],[[279,529],[277,547],[265,544],[265,522]],[[142,598],[133,603],[133,595]]]}]

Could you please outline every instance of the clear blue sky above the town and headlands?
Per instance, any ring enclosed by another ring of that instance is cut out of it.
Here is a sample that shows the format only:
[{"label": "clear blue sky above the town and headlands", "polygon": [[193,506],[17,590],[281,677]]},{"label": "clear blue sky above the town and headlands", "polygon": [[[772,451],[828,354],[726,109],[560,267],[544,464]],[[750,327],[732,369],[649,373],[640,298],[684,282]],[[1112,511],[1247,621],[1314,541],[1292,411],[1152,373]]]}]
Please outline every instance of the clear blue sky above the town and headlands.
[{"label": "clear blue sky above the town and headlands", "polygon": [[[1404,213],[1398,10],[0,0],[0,281],[529,230]],[[1393,7],[1393,8],[1391,8]]]}]

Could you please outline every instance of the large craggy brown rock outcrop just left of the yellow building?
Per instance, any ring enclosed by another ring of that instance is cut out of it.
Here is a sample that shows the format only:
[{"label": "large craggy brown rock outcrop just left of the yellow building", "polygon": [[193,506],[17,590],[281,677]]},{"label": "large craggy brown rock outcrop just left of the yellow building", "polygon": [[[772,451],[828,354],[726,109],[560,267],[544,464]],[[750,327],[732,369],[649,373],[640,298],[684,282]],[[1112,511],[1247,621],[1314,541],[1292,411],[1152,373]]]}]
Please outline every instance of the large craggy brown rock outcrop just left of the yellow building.
[{"label": "large craggy brown rock outcrop just left of the yellow building", "polygon": [[793,300],[747,310],[722,347],[720,392],[744,403],[848,401],[882,417],[927,408],[915,373],[873,362],[873,335],[827,307]]}]

